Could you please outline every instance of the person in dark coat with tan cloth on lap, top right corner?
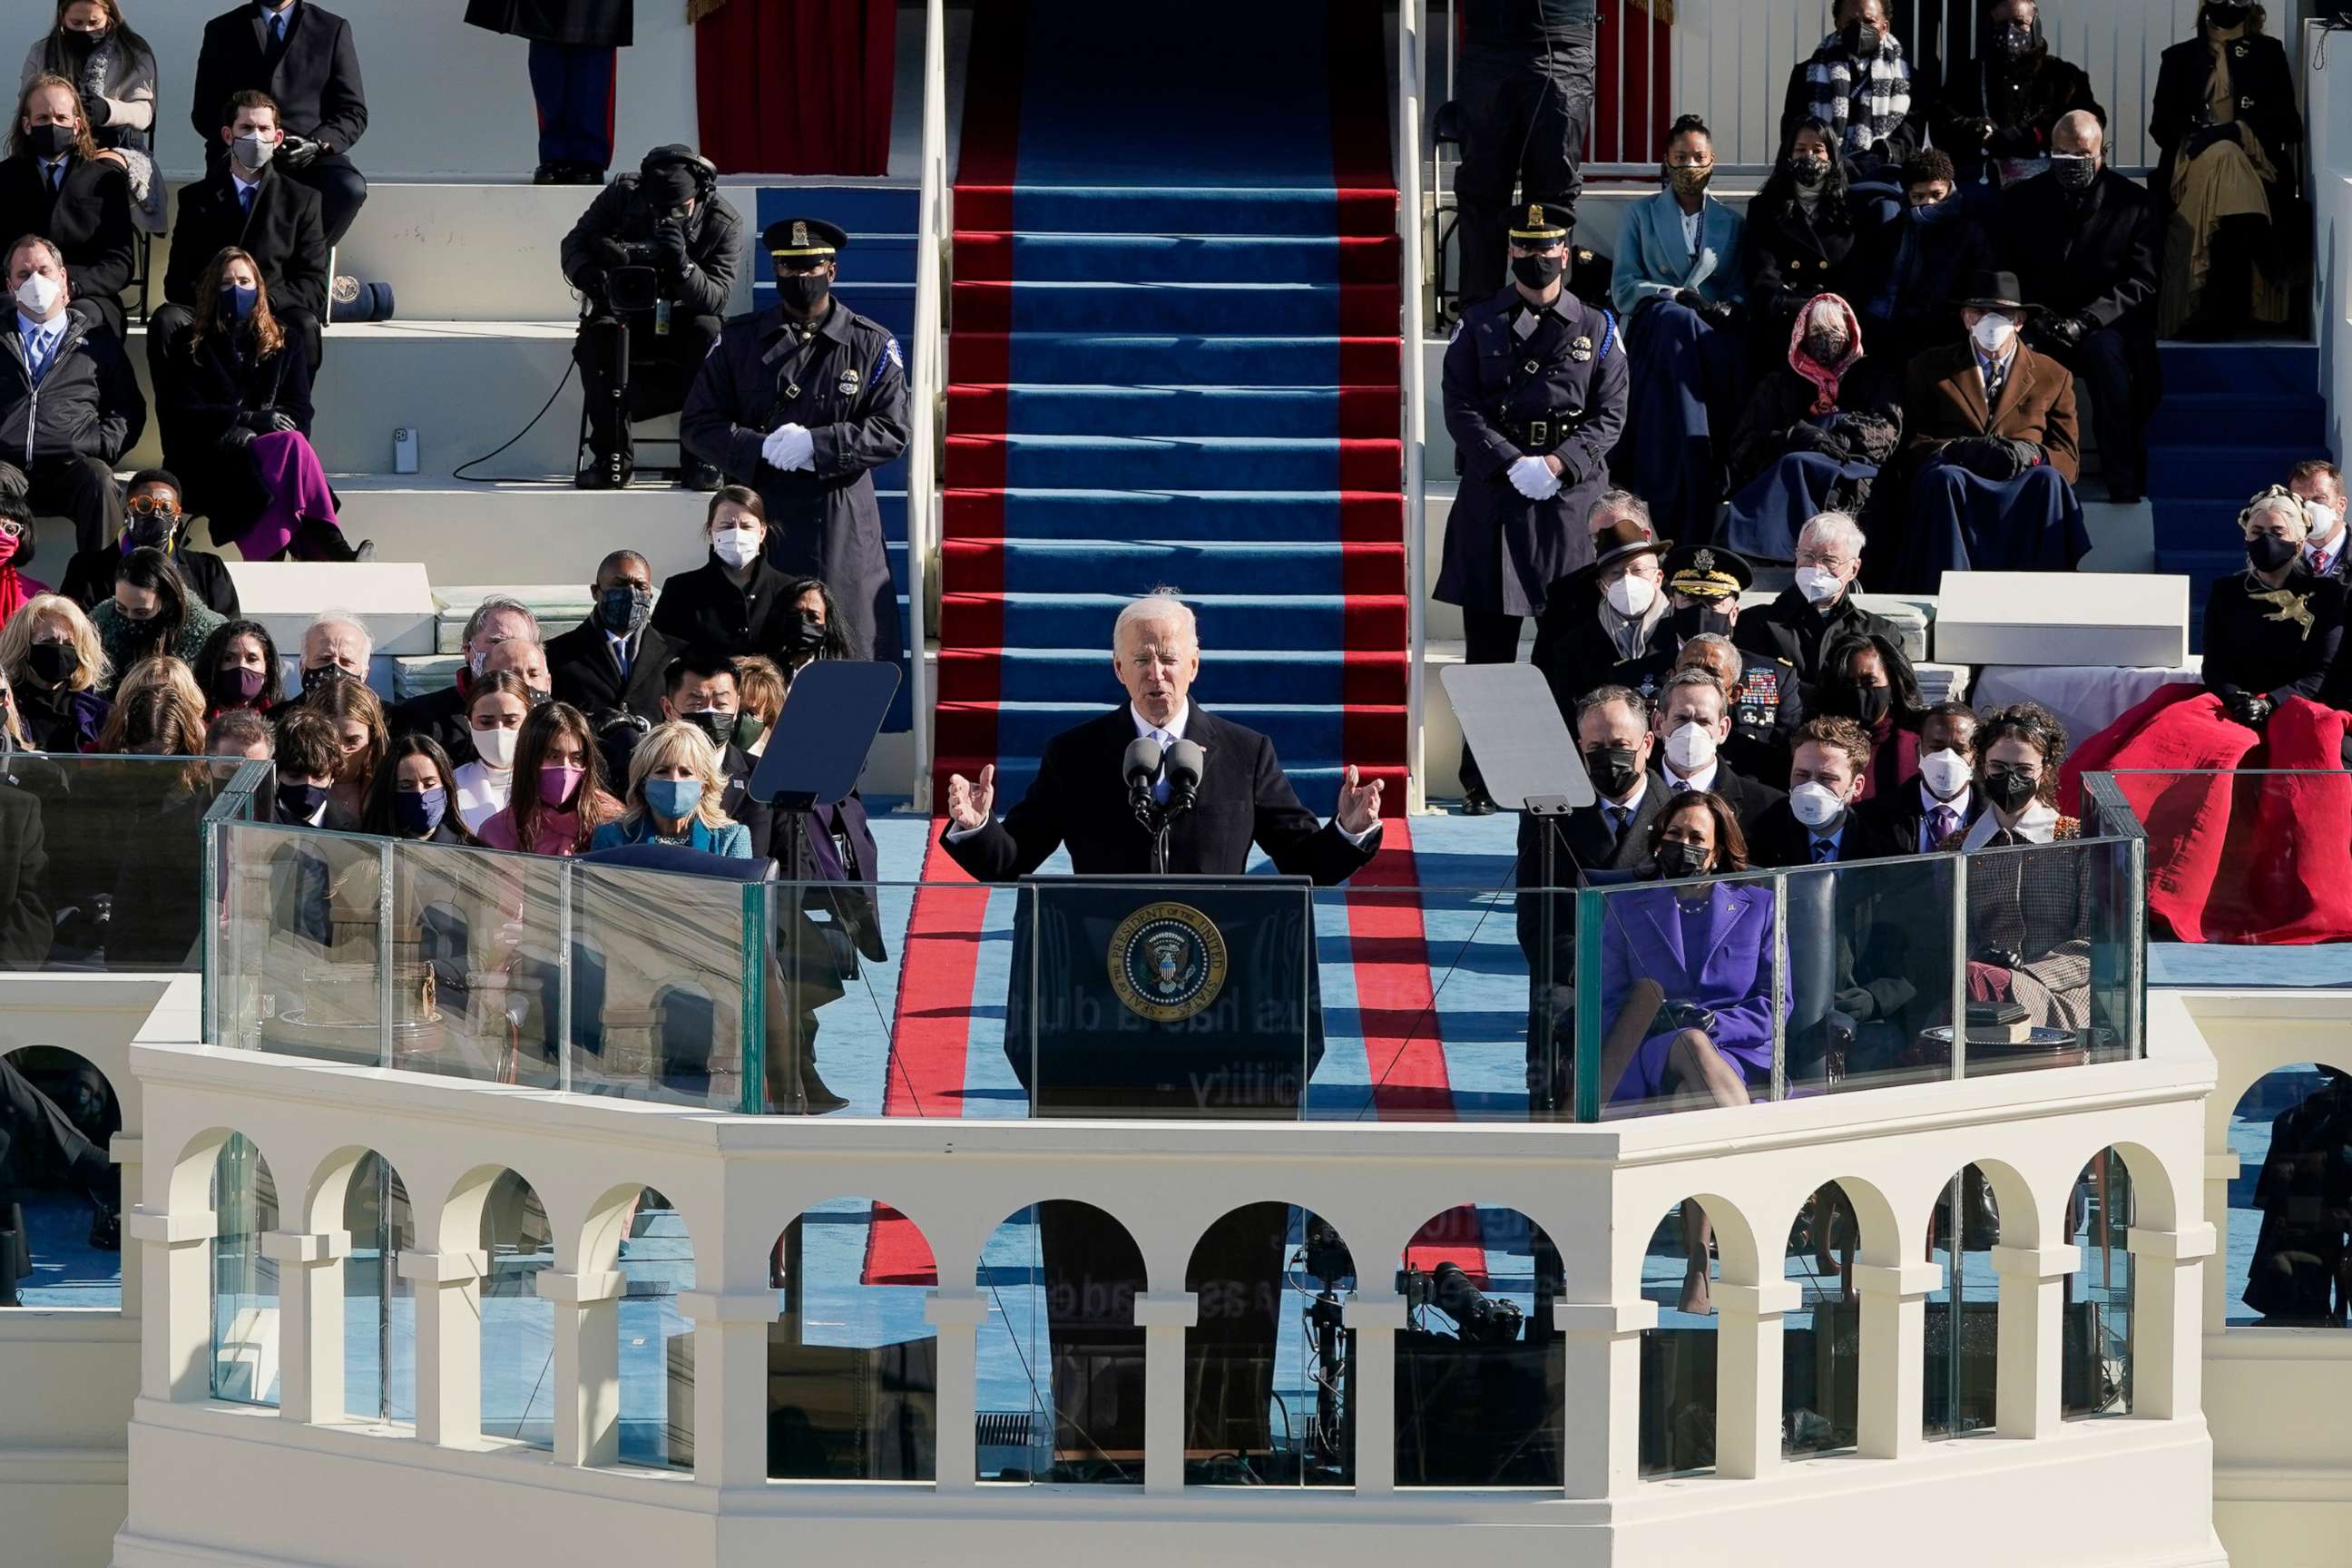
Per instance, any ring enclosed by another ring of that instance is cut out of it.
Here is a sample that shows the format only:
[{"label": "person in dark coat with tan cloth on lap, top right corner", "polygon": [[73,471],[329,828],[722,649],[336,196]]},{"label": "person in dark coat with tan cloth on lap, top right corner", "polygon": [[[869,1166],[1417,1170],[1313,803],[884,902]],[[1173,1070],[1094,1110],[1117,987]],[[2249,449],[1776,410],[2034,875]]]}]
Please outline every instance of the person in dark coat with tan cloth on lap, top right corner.
[{"label": "person in dark coat with tan cloth on lap, top right corner", "polygon": [[2206,0],[2197,35],[2157,63],[2147,136],[2164,148],[2150,190],[2171,214],[2157,331],[2230,339],[2284,324],[2300,268],[2279,240],[2303,200],[2303,113],[2260,5]]}]

